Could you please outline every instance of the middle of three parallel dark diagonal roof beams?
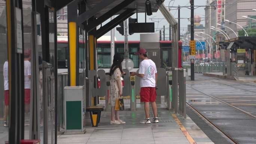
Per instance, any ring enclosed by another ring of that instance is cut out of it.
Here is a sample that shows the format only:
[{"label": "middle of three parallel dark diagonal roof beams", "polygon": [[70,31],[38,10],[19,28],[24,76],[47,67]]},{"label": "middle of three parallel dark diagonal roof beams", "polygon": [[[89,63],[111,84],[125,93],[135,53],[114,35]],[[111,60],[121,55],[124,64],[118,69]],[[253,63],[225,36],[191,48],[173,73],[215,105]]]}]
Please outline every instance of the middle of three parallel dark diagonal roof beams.
[{"label": "middle of three parallel dark diagonal roof beams", "polygon": [[133,1],[135,1],[135,0],[125,0],[122,3],[118,4],[113,9],[109,10],[107,13],[105,13],[102,16],[100,16],[100,18],[97,18],[95,21],[90,22],[85,27],[85,30],[86,31],[91,31],[92,29],[94,29],[95,27],[97,27],[98,25],[100,25],[101,23],[106,21],[107,19],[109,19],[111,16],[115,15],[115,13],[119,12],[124,7],[128,6],[129,4],[131,4]]}]

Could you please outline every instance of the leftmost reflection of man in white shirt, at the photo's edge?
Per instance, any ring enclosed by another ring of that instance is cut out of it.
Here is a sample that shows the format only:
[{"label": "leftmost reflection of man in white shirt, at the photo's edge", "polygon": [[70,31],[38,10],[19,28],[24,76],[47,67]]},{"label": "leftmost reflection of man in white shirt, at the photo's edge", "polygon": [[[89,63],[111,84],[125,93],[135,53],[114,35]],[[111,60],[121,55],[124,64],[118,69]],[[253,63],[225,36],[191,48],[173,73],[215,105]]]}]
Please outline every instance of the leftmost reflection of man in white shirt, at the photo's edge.
[{"label": "leftmost reflection of man in white shirt, at the photo's edge", "polygon": [[8,61],[4,62],[3,65],[3,76],[4,76],[4,127],[8,126],[7,116],[9,108],[9,70]]}]

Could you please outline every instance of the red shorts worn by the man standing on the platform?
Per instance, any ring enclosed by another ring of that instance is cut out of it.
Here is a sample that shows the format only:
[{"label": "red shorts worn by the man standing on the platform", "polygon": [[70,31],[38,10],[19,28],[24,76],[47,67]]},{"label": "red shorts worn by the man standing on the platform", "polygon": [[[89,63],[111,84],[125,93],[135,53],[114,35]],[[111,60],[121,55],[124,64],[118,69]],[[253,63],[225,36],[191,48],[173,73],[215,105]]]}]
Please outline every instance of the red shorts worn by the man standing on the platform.
[{"label": "red shorts worn by the man standing on the platform", "polygon": [[140,101],[141,102],[155,102],[156,101],[156,88],[155,87],[140,88]]}]

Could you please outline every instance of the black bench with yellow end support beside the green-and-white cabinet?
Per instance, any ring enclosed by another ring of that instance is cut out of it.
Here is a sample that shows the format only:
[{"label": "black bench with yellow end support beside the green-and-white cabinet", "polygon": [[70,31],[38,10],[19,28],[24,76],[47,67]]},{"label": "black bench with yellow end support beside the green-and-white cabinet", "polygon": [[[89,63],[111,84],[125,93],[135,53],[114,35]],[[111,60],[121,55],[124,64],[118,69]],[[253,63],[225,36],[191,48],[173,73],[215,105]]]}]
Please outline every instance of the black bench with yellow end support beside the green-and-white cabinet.
[{"label": "black bench with yellow end support beside the green-and-white cabinet", "polygon": [[86,108],[86,111],[90,113],[92,127],[98,126],[98,123],[100,122],[100,114],[103,110],[103,105],[90,106]]}]

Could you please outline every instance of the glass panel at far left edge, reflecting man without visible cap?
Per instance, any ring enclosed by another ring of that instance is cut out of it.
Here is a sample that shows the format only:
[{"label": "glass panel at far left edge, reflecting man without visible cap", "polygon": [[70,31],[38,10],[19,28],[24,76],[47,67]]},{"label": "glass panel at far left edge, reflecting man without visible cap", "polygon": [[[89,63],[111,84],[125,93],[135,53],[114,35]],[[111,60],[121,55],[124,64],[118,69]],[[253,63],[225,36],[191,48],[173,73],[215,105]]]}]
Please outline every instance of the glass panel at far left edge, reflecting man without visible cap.
[{"label": "glass panel at far left edge, reflecting man without visible cap", "polygon": [[0,0],[0,19],[0,144],[4,144],[4,141],[8,141],[9,138],[9,77],[5,0]]}]

